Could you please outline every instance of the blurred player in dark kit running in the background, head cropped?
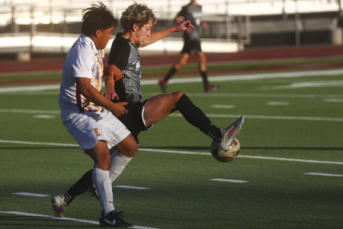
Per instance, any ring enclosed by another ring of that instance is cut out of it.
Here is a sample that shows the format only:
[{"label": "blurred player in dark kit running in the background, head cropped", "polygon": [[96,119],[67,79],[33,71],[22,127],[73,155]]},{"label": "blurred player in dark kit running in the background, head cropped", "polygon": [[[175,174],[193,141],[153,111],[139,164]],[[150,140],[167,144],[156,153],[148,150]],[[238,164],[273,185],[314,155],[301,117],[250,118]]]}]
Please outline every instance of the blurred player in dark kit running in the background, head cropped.
[{"label": "blurred player in dark kit running in the background, head cropped", "polygon": [[206,56],[201,51],[200,46],[200,26],[206,28],[207,23],[201,21],[201,5],[197,4],[196,0],[192,0],[188,5],[182,7],[181,11],[176,15],[176,23],[180,22],[180,17],[184,17],[184,20],[190,20],[194,29],[187,28],[184,32],[184,47],[181,50],[181,56],[175,64],[170,68],[167,75],[158,81],[159,86],[163,93],[166,93],[166,87],[168,80],[185,64],[189,59],[190,54],[194,53],[198,60],[199,72],[204,83],[204,91],[216,91],[219,86],[209,83],[206,71]]}]

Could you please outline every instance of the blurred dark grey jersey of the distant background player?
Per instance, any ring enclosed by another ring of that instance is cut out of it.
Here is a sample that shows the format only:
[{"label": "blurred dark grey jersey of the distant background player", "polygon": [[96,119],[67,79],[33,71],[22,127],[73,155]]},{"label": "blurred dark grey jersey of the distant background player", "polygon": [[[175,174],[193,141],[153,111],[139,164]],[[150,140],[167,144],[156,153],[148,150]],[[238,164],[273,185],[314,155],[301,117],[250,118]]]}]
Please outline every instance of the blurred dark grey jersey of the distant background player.
[{"label": "blurred dark grey jersey of the distant background player", "polygon": [[201,25],[201,5],[193,5],[189,3],[182,7],[181,11],[177,14],[178,16],[183,16],[185,20],[189,20],[194,29],[190,34],[184,32],[184,37],[189,40],[198,40],[200,39],[200,25]]}]

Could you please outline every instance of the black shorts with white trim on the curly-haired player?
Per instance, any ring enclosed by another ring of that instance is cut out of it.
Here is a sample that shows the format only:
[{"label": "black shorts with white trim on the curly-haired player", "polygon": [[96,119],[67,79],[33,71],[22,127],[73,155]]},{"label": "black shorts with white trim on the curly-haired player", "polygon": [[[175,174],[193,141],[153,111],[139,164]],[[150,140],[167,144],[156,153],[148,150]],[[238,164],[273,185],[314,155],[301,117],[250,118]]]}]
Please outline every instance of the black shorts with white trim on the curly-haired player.
[{"label": "black shorts with white trim on the curly-haired player", "polygon": [[129,113],[118,117],[119,121],[122,122],[128,128],[128,130],[130,130],[132,136],[137,141],[137,144],[139,144],[138,134],[141,131],[150,129],[152,127],[152,125],[146,127],[142,117],[143,106],[147,103],[147,101],[149,101],[149,99],[144,100],[143,102],[138,101],[125,105],[124,107]]}]

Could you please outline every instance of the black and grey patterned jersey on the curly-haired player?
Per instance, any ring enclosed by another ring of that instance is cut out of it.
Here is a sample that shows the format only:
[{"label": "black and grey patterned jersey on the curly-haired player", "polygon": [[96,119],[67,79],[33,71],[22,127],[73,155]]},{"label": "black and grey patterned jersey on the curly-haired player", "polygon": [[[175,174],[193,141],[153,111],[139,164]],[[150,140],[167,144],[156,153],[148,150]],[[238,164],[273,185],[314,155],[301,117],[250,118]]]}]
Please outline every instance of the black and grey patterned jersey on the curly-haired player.
[{"label": "black and grey patterned jersey on the curly-haired player", "polygon": [[112,102],[133,103],[142,99],[138,46],[139,44],[131,44],[131,40],[124,38],[122,33],[117,33],[112,43],[108,64],[116,65],[123,72],[123,77],[114,85],[119,100],[112,100]]}]

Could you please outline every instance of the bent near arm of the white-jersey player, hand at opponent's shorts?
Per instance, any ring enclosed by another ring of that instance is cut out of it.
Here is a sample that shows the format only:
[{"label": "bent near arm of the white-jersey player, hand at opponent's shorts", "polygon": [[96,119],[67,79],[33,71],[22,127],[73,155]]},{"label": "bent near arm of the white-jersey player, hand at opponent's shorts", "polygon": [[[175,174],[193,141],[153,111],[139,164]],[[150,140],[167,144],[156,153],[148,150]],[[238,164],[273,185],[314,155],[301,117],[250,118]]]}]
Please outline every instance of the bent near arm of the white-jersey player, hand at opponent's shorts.
[{"label": "bent near arm of the white-jersey player, hand at opponent's shorts", "polygon": [[122,114],[127,114],[128,111],[124,108],[127,102],[113,103],[106,99],[100,92],[98,92],[92,85],[91,79],[86,77],[75,77],[76,85],[80,93],[89,101],[98,106],[102,106],[112,112],[116,117]]}]

